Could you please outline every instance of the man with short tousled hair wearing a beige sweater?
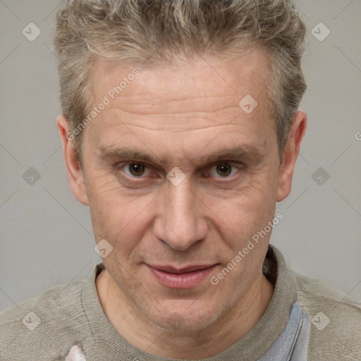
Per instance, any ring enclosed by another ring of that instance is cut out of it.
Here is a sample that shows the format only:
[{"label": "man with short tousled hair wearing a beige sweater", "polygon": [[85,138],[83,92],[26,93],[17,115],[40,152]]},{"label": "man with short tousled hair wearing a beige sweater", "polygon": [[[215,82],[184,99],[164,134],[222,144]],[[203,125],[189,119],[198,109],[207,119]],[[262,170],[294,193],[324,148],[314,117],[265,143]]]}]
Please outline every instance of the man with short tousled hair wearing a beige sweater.
[{"label": "man with short tousled hair wearing a beige sweater", "polygon": [[68,1],[57,126],[102,263],[4,312],[1,360],[360,360],[360,303],[269,245],[304,36],[286,0]]}]

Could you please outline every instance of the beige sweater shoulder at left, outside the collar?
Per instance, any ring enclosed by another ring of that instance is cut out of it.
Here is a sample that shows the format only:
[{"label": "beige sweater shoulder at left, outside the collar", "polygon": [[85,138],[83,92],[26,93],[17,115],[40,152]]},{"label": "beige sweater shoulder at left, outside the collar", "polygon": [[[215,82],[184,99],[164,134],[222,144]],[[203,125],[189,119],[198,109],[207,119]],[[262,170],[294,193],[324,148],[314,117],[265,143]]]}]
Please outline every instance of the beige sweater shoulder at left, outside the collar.
[{"label": "beige sweater shoulder at left, outside the collar", "polygon": [[1,312],[0,360],[51,360],[60,356],[52,355],[53,350],[66,352],[79,331],[77,323],[85,319],[83,284],[73,281],[50,288]]}]

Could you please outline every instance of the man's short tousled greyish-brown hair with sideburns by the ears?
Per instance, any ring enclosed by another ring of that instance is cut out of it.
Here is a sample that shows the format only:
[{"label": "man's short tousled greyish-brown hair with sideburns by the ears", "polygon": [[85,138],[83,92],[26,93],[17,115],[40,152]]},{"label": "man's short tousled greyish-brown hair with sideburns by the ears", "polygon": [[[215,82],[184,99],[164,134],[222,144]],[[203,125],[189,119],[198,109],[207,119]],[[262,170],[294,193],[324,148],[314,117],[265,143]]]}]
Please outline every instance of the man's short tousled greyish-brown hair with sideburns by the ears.
[{"label": "man's short tousled greyish-brown hair with sideburns by the ears", "polygon": [[[270,61],[269,101],[282,157],[306,89],[304,44],[305,23],[291,0],[68,0],[54,35],[62,113],[71,131],[89,114],[91,68],[99,59],[152,66],[259,47]],[[74,137],[80,164],[81,135]]]}]

